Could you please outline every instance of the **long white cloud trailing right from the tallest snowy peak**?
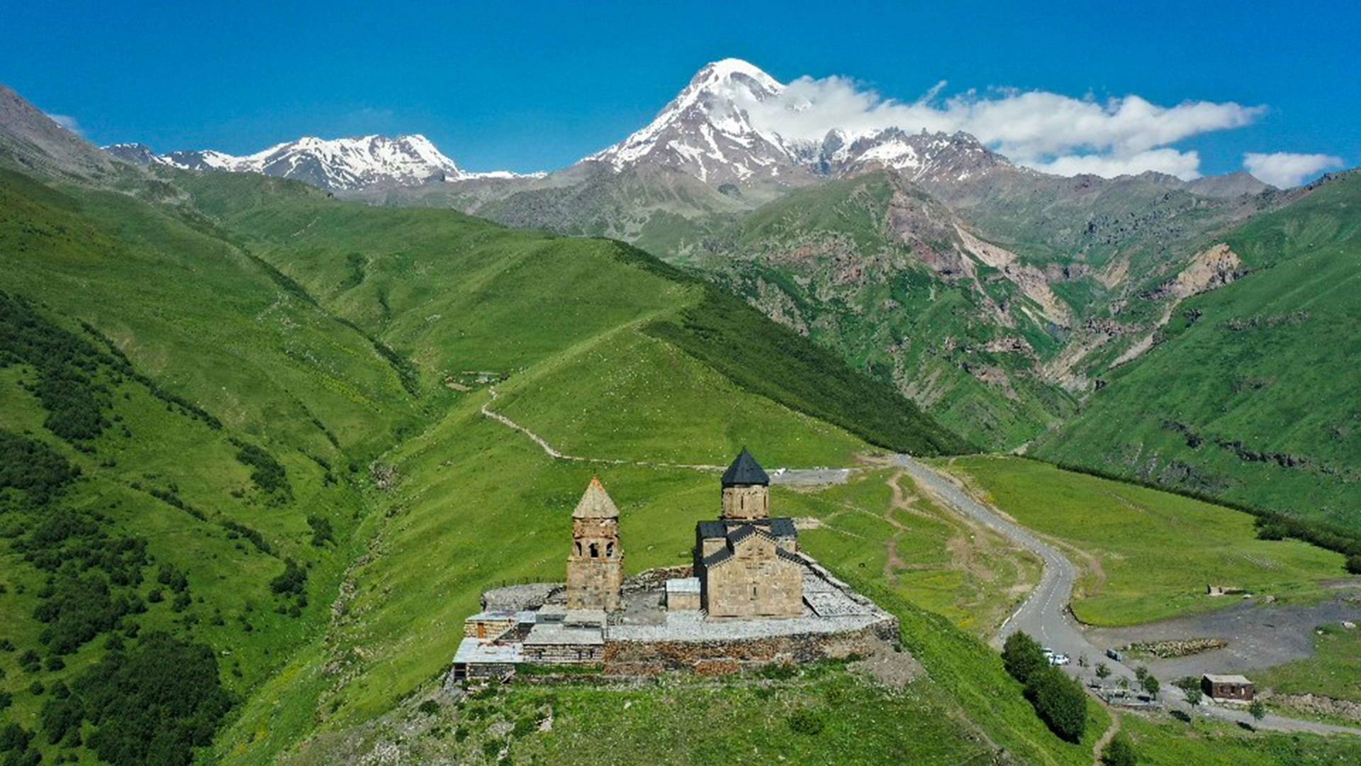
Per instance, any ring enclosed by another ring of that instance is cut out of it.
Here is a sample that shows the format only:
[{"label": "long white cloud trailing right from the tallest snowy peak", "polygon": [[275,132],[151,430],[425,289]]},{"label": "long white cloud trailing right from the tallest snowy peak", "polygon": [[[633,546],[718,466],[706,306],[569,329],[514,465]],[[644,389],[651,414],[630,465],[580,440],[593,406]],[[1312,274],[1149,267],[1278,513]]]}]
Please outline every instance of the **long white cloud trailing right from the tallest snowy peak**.
[{"label": "long white cloud trailing right from the tallest snowy peak", "polygon": [[789,139],[818,140],[832,128],[965,131],[1017,164],[1052,173],[1158,170],[1183,179],[1200,174],[1199,154],[1170,144],[1248,125],[1266,110],[1211,101],[1158,106],[1139,95],[1097,101],[1040,90],[970,90],[940,99],[943,87],[938,83],[909,104],[847,78],[800,78],[778,97],[743,106],[753,124]]}]

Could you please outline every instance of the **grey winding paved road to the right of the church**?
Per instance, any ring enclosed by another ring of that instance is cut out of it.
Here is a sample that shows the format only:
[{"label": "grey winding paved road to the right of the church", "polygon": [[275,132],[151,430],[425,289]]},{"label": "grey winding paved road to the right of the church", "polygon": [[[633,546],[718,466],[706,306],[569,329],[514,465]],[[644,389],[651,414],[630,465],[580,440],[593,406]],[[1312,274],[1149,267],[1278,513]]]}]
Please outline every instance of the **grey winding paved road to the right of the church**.
[{"label": "grey winding paved road to the right of the church", "polygon": [[[1068,613],[1068,601],[1072,598],[1072,583],[1078,578],[1078,568],[1029,529],[1011,522],[995,510],[980,503],[968,492],[960,489],[953,481],[942,476],[935,469],[917,462],[911,455],[897,455],[897,463],[902,466],[919,485],[938,496],[955,511],[965,514],[980,523],[1004,534],[1007,538],[1040,556],[1044,560],[1044,574],[1040,585],[1030,592],[1030,596],[1021,607],[1002,623],[998,635],[992,638],[992,646],[1000,647],[1006,637],[1015,631],[1025,631],[1036,637],[1040,643],[1062,652],[1077,660],[1086,654],[1094,662],[1104,661],[1112,671],[1112,676],[1126,676],[1134,679],[1134,671],[1123,664],[1104,657],[1101,649],[1087,641],[1078,622]],[[1077,664],[1067,671],[1078,675]],[[1185,702],[1183,691],[1172,686],[1172,679],[1158,679],[1162,683],[1162,698],[1169,707],[1184,713],[1207,714],[1226,721],[1247,724],[1259,729],[1274,729],[1282,732],[1311,732],[1320,735],[1361,735],[1361,729],[1353,726],[1337,726],[1320,724],[1317,721],[1304,721],[1300,718],[1286,718],[1283,716],[1268,714],[1260,721],[1253,721],[1245,710],[1234,707],[1221,707],[1218,705],[1191,706]]]}]

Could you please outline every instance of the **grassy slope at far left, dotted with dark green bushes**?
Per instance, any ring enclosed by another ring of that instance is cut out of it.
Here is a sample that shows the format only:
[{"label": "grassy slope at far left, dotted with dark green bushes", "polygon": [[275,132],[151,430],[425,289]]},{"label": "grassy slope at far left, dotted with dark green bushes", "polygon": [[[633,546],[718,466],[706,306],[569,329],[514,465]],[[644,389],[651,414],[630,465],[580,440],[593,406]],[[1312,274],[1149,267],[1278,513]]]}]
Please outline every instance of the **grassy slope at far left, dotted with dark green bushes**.
[{"label": "grassy slope at far left, dotted with dark green bushes", "polygon": [[[109,356],[90,373],[109,390],[103,414],[112,425],[76,450],[44,427],[44,406],[19,386],[38,379],[34,365],[0,368],[0,429],[27,433],[83,470],[84,478],[44,512],[102,514],[112,534],[146,540],[150,564],[132,590],[143,598],[158,587],[157,567],[185,571],[192,605],[174,612],[167,597],[131,622],[229,652],[220,658],[223,683],[249,694],[325,624],[327,593],[351,555],[344,540],[365,511],[346,480],[348,455],[391,440],[412,413],[396,376],[362,337],[291,300],[240,254],[118,194],[54,191],[0,173],[0,290],[42,301],[42,323],[101,349],[78,320],[91,323],[122,348],[136,372],[225,424],[214,429],[157,398],[147,384],[114,372]],[[255,488],[231,439],[267,450],[284,468],[290,491]],[[331,481],[318,461],[335,470]],[[154,491],[173,492],[204,518]],[[309,515],[329,521],[340,545],[312,545]],[[45,518],[0,517],[5,537]],[[223,523],[259,532],[271,552]],[[84,643],[63,669],[20,672],[20,653],[49,656],[33,619],[45,574],[8,541],[0,556],[0,624],[16,645],[0,654],[0,687],[15,692],[7,718],[33,729],[50,692],[33,695],[29,684],[41,680],[50,690],[71,681],[103,656],[103,642]],[[298,617],[276,612],[283,602],[269,589],[284,557],[309,567],[313,598]]]}]

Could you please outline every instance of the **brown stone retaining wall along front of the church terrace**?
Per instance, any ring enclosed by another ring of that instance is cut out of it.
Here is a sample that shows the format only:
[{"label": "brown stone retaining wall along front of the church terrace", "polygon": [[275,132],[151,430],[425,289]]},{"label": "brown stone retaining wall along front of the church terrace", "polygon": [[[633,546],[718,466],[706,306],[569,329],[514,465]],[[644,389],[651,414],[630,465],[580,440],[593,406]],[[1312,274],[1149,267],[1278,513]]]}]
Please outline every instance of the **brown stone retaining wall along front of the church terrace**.
[{"label": "brown stone retaining wall along front of the church terrace", "polygon": [[651,676],[687,669],[704,675],[724,675],[743,668],[814,662],[852,654],[867,656],[875,643],[898,641],[898,620],[885,619],[870,627],[834,634],[793,634],[734,641],[608,641],[604,645],[604,672],[622,676]]}]

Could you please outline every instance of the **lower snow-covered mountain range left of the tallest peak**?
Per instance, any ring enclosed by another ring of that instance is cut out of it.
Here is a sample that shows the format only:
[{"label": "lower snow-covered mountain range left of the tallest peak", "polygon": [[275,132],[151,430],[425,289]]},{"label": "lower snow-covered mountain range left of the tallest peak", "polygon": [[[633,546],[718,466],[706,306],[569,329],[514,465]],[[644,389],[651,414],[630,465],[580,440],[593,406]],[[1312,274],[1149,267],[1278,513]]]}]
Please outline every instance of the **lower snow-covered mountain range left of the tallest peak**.
[{"label": "lower snow-covered mountain range left of the tallest peak", "polygon": [[423,135],[342,139],[301,138],[256,154],[234,157],[214,150],[157,154],[144,144],[114,144],[105,151],[142,165],[161,164],[192,170],[264,173],[325,189],[418,185],[427,181],[517,177],[509,172],[470,173],[440,153]]}]

